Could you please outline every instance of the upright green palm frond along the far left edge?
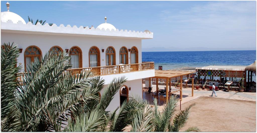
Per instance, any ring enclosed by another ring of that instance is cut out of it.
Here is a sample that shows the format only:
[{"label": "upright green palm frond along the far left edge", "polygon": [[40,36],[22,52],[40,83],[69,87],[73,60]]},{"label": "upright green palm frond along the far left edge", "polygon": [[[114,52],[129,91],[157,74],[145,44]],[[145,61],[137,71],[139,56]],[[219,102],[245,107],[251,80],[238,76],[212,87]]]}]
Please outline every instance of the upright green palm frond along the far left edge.
[{"label": "upright green palm frond along the far left edge", "polygon": [[14,106],[14,92],[17,90],[17,73],[21,67],[17,65],[20,51],[14,42],[4,43],[1,47],[1,118],[4,118]]}]

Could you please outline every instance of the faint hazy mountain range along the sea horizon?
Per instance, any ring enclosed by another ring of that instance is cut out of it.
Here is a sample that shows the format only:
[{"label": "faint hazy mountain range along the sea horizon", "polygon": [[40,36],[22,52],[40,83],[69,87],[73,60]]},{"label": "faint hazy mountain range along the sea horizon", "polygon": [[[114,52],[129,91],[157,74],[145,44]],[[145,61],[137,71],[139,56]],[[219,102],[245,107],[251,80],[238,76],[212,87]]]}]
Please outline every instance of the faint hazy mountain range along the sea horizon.
[{"label": "faint hazy mountain range along the sea horizon", "polygon": [[191,48],[153,47],[153,48],[142,48],[143,52],[160,52],[160,51],[228,51],[228,50],[256,50],[256,48],[205,48],[205,47],[191,47]]}]

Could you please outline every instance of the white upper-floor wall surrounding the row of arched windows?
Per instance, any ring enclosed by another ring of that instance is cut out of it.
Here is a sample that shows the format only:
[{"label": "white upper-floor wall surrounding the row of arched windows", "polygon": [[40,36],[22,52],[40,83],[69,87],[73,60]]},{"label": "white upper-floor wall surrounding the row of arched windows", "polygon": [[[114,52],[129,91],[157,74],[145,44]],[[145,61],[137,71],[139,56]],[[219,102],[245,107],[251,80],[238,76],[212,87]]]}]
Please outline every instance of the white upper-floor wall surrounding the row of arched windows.
[{"label": "white upper-floor wall surrounding the row of arched windows", "polygon": [[[119,51],[122,46],[131,49],[136,46],[138,49],[139,63],[142,62],[142,45],[141,39],[122,39],[106,37],[82,37],[67,35],[42,35],[42,34],[20,34],[1,32],[1,45],[6,42],[15,42],[19,48],[23,49],[18,58],[18,63],[24,66],[24,51],[28,46],[35,45],[40,48],[42,55],[50,50],[54,45],[60,46],[63,51],[70,49],[72,46],[78,46],[82,50],[82,66],[89,67],[88,51],[91,46],[97,46],[100,50],[100,64],[106,65],[105,52],[108,46],[113,46],[116,51],[116,65],[120,64]],[[104,49],[104,52],[102,52]],[[128,63],[130,64],[130,52],[128,53]]]}]

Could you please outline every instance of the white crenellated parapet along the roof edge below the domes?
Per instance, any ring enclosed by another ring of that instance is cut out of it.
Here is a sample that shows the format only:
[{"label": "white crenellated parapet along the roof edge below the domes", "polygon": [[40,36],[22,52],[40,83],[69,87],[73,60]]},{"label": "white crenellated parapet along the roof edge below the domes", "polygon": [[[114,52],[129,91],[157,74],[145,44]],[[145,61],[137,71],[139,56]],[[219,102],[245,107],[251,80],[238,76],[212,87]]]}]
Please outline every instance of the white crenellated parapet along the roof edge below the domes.
[{"label": "white crenellated parapet along the roof edge below the domes", "polygon": [[119,30],[119,29],[99,29],[95,27],[89,28],[88,26],[64,26],[60,24],[57,26],[53,24],[50,26],[48,23],[41,25],[39,22],[36,25],[33,25],[31,22],[27,24],[23,24],[21,21],[17,23],[13,23],[12,20],[8,20],[7,22],[1,21],[1,30],[2,32],[11,32],[11,33],[20,33],[23,31],[24,33],[33,33],[37,32],[37,34],[51,34],[51,35],[63,35],[63,34],[74,34],[77,36],[108,36],[108,37],[117,37],[117,38],[138,38],[138,39],[152,39],[152,32],[139,32],[139,31],[131,31],[131,30]]}]

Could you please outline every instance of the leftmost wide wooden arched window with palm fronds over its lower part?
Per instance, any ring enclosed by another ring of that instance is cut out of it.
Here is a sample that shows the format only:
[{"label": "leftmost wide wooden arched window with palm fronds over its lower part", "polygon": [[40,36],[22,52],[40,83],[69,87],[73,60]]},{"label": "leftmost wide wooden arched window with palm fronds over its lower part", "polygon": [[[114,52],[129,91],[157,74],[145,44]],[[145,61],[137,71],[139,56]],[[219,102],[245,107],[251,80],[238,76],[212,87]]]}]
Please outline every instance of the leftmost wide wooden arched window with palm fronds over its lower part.
[{"label": "leftmost wide wooden arched window with palm fronds over its lower part", "polygon": [[26,67],[29,67],[31,65],[31,62],[34,62],[35,60],[41,60],[42,52],[37,46],[29,46],[26,48],[24,52],[24,69],[26,70]]}]

